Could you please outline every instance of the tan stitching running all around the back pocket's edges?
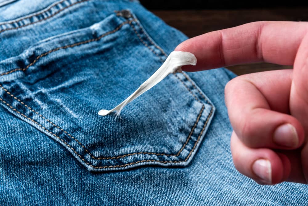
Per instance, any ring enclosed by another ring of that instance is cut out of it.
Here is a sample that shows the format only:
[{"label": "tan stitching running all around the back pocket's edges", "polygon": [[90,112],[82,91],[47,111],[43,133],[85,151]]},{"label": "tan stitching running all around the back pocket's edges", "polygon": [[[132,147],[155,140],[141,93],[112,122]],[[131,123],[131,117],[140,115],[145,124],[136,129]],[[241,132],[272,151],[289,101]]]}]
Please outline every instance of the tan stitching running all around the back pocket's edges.
[{"label": "tan stitching running all around the back pocket's edges", "polygon": [[[27,68],[29,68],[30,66],[32,66],[33,64],[35,64],[35,62],[36,62],[37,60],[39,60],[39,58],[41,58],[41,57],[43,57],[43,56],[46,56],[46,55],[50,54],[50,53],[53,52],[53,51],[58,51],[59,49],[65,49],[65,48],[69,48],[69,47],[75,47],[75,46],[78,46],[78,45],[80,45],[80,44],[85,44],[85,43],[89,43],[89,42],[93,42],[93,41],[98,41],[99,39],[103,38],[104,36],[106,36],[106,35],[108,35],[108,34],[111,34],[111,33],[114,33],[115,31],[119,30],[120,27],[122,27],[122,26],[123,26],[124,24],[126,24],[126,23],[128,23],[128,24],[130,24],[130,25],[132,26],[133,30],[135,31],[136,35],[137,35],[138,38],[140,39],[141,43],[143,43],[146,47],[148,47],[148,48],[150,49],[150,51],[152,51],[156,56],[158,56],[158,54],[157,54],[153,49],[151,49],[151,47],[149,47],[149,46],[141,39],[140,35],[138,35],[136,29],[135,29],[134,26],[132,25],[132,22],[133,22],[133,21],[137,22],[137,19],[132,19],[132,20],[130,20],[130,21],[126,21],[126,22],[120,24],[120,25],[119,25],[117,28],[115,28],[113,31],[107,32],[107,33],[105,33],[105,34],[99,36],[98,38],[90,39],[90,40],[87,40],[87,41],[83,41],[83,42],[79,42],[79,43],[75,43],[75,44],[71,44],[71,45],[67,45],[67,46],[63,46],[63,47],[58,47],[58,48],[55,48],[55,49],[50,50],[50,51],[48,51],[48,52],[45,52],[45,53],[43,53],[42,55],[38,56],[32,63],[28,64],[28,65],[26,66],[26,68],[17,68],[17,69],[11,70],[11,71],[9,71],[9,72],[4,72],[4,73],[0,74],[0,76],[7,75],[7,74],[10,74],[10,73],[12,73],[12,72],[19,71],[19,70],[25,71]],[[137,24],[138,24],[138,26],[140,26],[140,24],[139,24],[138,22],[137,22]],[[140,26],[140,27],[141,27],[141,26]],[[141,31],[144,33],[144,35],[146,35],[142,28],[141,28]],[[159,46],[157,46],[156,44],[154,44],[154,43],[149,39],[148,35],[146,35],[146,37],[148,38],[148,40],[150,41],[150,43],[152,43],[152,45],[154,45],[157,49],[159,49],[160,51],[162,51],[162,53],[164,54],[164,56],[167,56],[167,55],[165,54],[165,52],[164,52]],[[161,59],[161,60],[162,60],[162,59]],[[175,76],[176,76],[176,75],[175,75]],[[185,78],[186,78],[188,81],[191,82],[191,84],[193,85],[193,87],[194,87],[195,89],[197,89],[197,87],[196,87],[196,86],[193,84],[193,82],[188,78],[188,76],[185,75],[185,74],[184,74],[184,76],[185,76]],[[184,84],[184,82],[183,82],[178,76],[176,76],[176,77],[180,80],[180,82],[182,82],[182,84]],[[197,99],[197,97],[192,93],[192,91],[191,91],[185,84],[184,84],[184,86],[185,86],[186,89],[193,95],[193,97],[194,97],[197,101],[201,102],[200,100]],[[30,108],[28,105],[24,104],[24,102],[22,102],[20,99],[18,99],[18,98],[15,97],[13,94],[11,94],[11,93],[10,93],[7,89],[5,89],[1,84],[0,84],[0,87],[1,87],[6,93],[8,93],[11,97],[13,97],[13,98],[16,99],[17,101],[19,101],[21,104],[23,104],[26,108],[30,109],[32,112],[34,112],[34,113],[36,113],[36,114],[39,114],[38,112],[36,112],[36,111],[34,111],[32,108]],[[207,99],[205,98],[205,96],[200,92],[200,90],[197,89],[197,91],[198,91],[199,94],[205,99],[205,101],[208,102],[208,100],[207,100]],[[79,154],[75,151],[75,149],[74,149],[73,147],[71,147],[67,142],[65,142],[65,141],[64,141],[63,139],[61,139],[59,136],[57,136],[56,134],[54,134],[54,133],[52,133],[51,131],[47,130],[47,128],[43,127],[41,124],[39,124],[38,122],[36,122],[34,119],[31,119],[31,118],[27,117],[26,115],[20,113],[20,112],[17,111],[15,108],[13,108],[11,105],[9,105],[6,101],[4,101],[2,98],[0,98],[0,100],[1,100],[3,103],[5,103],[7,106],[9,106],[9,107],[10,107],[13,111],[15,111],[16,113],[18,113],[18,114],[22,115],[23,117],[29,119],[31,122],[34,122],[34,123],[37,124],[38,126],[42,127],[44,130],[46,130],[48,133],[50,133],[50,134],[52,134],[53,136],[55,136],[56,138],[58,138],[58,139],[59,139],[60,141],[62,141],[65,145],[67,145],[71,150],[73,150],[74,153],[75,153],[76,155],[78,155],[79,158],[81,158],[81,159],[83,160],[83,162],[85,162],[87,165],[89,165],[89,166],[91,166],[91,167],[93,167],[93,168],[95,168],[95,169],[111,168],[111,167],[113,167],[113,168],[115,168],[115,167],[127,167],[127,166],[129,166],[129,165],[133,165],[133,164],[137,164],[137,163],[142,163],[142,162],[160,162],[160,163],[179,163],[179,162],[186,162],[186,161],[188,160],[188,158],[190,157],[190,155],[192,154],[192,152],[194,151],[195,147],[197,146],[197,143],[199,142],[199,140],[200,140],[200,138],[201,138],[201,135],[203,134],[203,132],[204,132],[204,130],[205,130],[205,127],[206,127],[206,125],[207,125],[207,123],[208,123],[208,121],[209,121],[209,118],[211,117],[211,115],[212,115],[212,113],[213,113],[213,106],[212,106],[211,111],[210,111],[210,113],[209,113],[209,115],[208,115],[208,117],[207,117],[207,119],[206,119],[206,122],[205,122],[205,124],[204,124],[204,126],[203,126],[203,128],[202,128],[202,130],[201,130],[201,133],[199,134],[199,136],[198,136],[198,138],[197,138],[197,141],[195,142],[195,144],[194,144],[192,150],[190,151],[190,153],[188,154],[188,156],[186,157],[186,159],[185,159],[184,161],[183,161],[183,160],[180,160],[180,161],[141,160],[141,161],[137,161],[137,162],[133,162],[133,163],[127,163],[127,164],[124,164],[124,165],[95,167],[95,166],[91,165],[90,163],[88,163],[85,159],[83,159],[82,156],[79,155]],[[195,129],[196,126],[197,126],[197,123],[199,122],[199,119],[200,119],[200,117],[201,117],[201,114],[202,114],[204,108],[205,108],[204,105],[202,105],[202,108],[201,108],[201,110],[200,110],[200,112],[199,112],[199,115],[198,115],[198,117],[197,117],[197,120],[196,120],[196,122],[195,122],[195,124],[194,124],[194,126],[193,126],[193,128],[192,128],[192,130],[191,130],[191,132],[190,132],[190,134],[188,135],[188,138],[187,138],[186,142],[184,143],[184,145],[182,146],[182,148],[179,150],[179,152],[178,152],[176,155],[160,154],[160,153],[152,153],[152,152],[138,152],[138,153],[135,152],[135,153],[126,154],[126,155],[122,155],[122,156],[118,156],[118,157],[99,157],[99,158],[95,158],[95,157],[94,157],[91,153],[89,153],[88,150],[87,150],[76,138],[74,138],[71,134],[69,134],[68,132],[66,132],[65,130],[63,130],[62,128],[60,128],[59,126],[55,125],[53,122],[51,122],[50,120],[48,120],[48,119],[47,119],[46,117],[44,117],[43,115],[39,114],[39,116],[42,117],[43,119],[46,119],[47,122],[51,123],[53,126],[56,126],[56,127],[59,128],[60,130],[62,130],[64,133],[68,134],[71,138],[73,138],[76,142],[78,142],[78,143],[85,149],[85,151],[87,151],[88,154],[91,155],[91,157],[92,157],[93,159],[99,160],[99,159],[119,159],[119,158],[123,158],[123,157],[126,157],[126,156],[140,155],[140,154],[153,154],[153,155],[164,155],[164,156],[178,156],[178,155],[180,154],[180,152],[184,149],[184,147],[187,145],[187,143],[189,142],[190,137],[191,137],[191,135],[193,134],[193,131],[194,131],[194,129]]]}]

